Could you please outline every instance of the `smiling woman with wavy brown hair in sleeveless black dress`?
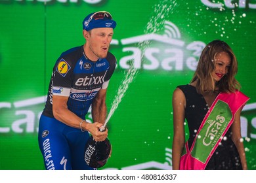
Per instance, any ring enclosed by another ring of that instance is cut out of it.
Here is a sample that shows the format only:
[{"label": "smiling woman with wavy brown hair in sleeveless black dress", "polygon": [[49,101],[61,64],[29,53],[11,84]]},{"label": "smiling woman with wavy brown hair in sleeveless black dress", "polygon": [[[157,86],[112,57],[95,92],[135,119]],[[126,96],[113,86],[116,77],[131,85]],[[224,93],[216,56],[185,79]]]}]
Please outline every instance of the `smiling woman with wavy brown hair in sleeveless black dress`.
[{"label": "smiling woman with wavy brown hair in sleeveless black dress", "polygon": [[[173,169],[181,169],[185,119],[188,123],[190,149],[217,95],[221,92],[234,93],[240,89],[239,82],[234,78],[237,71],[238,63],[230,46],[215,40],[203,49],[190,84],[178,86],[173,92]],[[240,132],[241,111],[242,107],[235,113],[232,125],[203,169],[247,169]]]}]

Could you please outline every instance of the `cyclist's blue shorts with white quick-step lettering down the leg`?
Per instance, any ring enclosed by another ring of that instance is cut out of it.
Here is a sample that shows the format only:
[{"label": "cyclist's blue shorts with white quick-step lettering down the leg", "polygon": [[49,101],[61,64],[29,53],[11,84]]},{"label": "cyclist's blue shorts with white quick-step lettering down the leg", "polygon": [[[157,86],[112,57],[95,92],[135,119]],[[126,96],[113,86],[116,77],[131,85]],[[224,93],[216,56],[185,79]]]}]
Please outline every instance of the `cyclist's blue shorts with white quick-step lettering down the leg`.
[{"label": "cyclist's blue shorts with white quick-step lettering down the leg", "polygon": [[84,160],[88,131],[41,115],[38,142],[47,170],[90,170]]}]

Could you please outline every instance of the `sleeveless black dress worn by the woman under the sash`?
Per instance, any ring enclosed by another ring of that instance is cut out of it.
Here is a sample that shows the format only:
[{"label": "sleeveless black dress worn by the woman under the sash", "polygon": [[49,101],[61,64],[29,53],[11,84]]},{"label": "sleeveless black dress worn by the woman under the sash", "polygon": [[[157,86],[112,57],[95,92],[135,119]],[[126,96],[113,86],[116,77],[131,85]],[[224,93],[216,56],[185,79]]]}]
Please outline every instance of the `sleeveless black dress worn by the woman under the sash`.
[{"label": "sleeveless black dress worn by the woman under the sash", "polygon": [[[186,97],[185,118],[190,133],[188,139],[188,147],[190,148],[209,107],[203,95],[198,94],[194,86],[187,84],[178,86],[177,88],[180,88]],[[238,150],[231,139],[231,127],[226,132],[221,144],[215,150],[205,169],[242,169]]]}]

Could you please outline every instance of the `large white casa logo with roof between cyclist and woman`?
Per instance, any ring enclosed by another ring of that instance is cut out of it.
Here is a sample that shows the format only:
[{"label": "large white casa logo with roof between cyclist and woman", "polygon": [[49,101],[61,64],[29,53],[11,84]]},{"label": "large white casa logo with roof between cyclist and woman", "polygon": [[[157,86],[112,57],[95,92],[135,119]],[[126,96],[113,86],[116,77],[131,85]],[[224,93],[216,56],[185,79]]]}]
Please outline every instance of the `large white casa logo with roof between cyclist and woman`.
[{"label": "large white casa logo with roof between cyclist and woman", "polygon": [[[111,44],[125,46],[122,51],[127,56],[119,59],[121,69],[164,70],[164,71],[195,71],[198,59],[206,44],[193,41],[188,44],[181,39],[179,28],[172,22],[163,24],[164,33],[147,33],[135,37],[112,40]],[[132,64],[131,64],[132,63]]]}]

